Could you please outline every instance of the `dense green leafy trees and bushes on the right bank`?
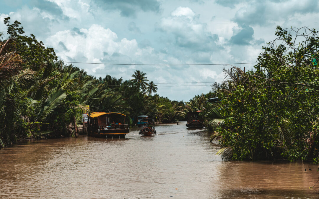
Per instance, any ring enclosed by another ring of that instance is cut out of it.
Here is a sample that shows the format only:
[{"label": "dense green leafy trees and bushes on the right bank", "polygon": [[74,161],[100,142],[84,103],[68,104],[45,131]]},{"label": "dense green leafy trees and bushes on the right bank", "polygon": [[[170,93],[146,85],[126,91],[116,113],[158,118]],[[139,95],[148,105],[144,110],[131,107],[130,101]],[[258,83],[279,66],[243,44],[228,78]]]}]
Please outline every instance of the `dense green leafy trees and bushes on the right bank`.
[{"label": "dense green leafy trees and bushes on the right bank", "polygon": [[319,163],[319,37],[315,29],[277,27],[252,71],[224,69],[220,102],[207,124],[226,160]]}]

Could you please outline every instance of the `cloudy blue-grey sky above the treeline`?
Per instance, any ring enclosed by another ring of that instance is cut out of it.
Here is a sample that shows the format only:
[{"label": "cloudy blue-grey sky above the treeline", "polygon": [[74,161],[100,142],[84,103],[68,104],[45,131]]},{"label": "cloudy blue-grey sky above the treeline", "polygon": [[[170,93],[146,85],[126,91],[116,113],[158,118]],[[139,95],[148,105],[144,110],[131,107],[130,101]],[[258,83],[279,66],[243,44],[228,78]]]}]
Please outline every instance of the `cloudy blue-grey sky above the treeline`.
[{"label": "cloudy blue-grey sky above the treeline", "polygon": [[[317,0],[1,0],[5,17],[22,23],[59,59],[121,64],[256,62],[276,26],[317,28]],[[317,28],[318,29],[318,28]],[[135,70],[158,85],[158,94],[189,101],[224,81],[230,65],[134,66],[74,64],[96,77],[131,79]],[[253,69],[254,64],[236,64]],[[167,86],[176,87],[167,87]],[[196,86],[181,86],[196,85]],[[205,85],[205,86],[199,86]]]}]

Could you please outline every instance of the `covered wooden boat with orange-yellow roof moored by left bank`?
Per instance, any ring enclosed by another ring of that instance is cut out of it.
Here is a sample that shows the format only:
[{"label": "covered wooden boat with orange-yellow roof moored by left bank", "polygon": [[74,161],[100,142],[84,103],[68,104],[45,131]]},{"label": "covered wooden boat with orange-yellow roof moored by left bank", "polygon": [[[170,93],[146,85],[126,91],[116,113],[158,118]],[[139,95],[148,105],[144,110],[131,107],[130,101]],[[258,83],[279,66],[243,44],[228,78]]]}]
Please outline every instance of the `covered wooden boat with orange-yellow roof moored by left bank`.
[{"label": "covered wooden boat with orange-yellow roof moored by left bank", "polygon": [[88,132],[98,138],[124,138],[130,132],[122,113],[94,112],[88,114]]}]

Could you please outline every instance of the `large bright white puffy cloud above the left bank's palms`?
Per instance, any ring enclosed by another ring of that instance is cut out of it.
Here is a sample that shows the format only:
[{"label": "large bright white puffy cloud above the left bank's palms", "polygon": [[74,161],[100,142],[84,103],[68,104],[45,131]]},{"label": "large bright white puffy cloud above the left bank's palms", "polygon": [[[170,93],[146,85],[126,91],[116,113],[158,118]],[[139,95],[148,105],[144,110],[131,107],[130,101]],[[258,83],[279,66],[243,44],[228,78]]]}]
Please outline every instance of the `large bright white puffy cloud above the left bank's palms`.
[{"label": "large bright white puffy cloud above the left bank's palms", "polygon": [[[97,62],[116,60],[116,58],[128,57],[132,60],[139,56],[151,54],[151,47],[139,48],[136,39],[126,38],[118,41],[115,32],[109,28],[93,24],[89,29],[73,28],[56,32],[48,37],[47,44],[54,47],[59,58],[65,61],[77,60],[78,62]],[[116,62],[120,61],[116,60]],[[103,65],[90,68],[93,72]]]}]

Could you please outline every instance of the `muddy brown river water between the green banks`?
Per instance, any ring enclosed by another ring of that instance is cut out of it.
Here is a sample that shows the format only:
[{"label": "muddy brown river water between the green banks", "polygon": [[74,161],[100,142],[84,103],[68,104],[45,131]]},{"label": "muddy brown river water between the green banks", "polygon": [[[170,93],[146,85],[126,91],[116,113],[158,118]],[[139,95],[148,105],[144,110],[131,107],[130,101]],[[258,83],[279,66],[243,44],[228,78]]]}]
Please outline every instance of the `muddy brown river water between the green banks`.
[{"label": "muddy brown river water between the green banks", "polygon": [[[0,198],[319,198],[317,166],[225,162],[180,125],[126,139],[36,140],[0,150]],[[312,171],[305,172],[305,168]],[[318,182],[319,183],[319,182]]]}]

